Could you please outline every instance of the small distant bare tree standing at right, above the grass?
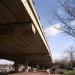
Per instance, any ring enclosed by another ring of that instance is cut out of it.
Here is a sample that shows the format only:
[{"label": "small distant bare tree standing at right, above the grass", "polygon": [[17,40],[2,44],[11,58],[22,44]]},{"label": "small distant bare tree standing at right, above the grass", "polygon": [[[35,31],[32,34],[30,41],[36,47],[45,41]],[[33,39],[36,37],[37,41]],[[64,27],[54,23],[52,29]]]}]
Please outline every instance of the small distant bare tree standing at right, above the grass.
[{"label": "small distant bare tree standing at right, above the grass", "polygon": [[74,47],[69,47],[69,48],[65,49],[65,54],[68,55],[68,57],[70,59],[71,66],[73,66],[75,48]]}]

